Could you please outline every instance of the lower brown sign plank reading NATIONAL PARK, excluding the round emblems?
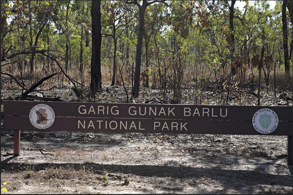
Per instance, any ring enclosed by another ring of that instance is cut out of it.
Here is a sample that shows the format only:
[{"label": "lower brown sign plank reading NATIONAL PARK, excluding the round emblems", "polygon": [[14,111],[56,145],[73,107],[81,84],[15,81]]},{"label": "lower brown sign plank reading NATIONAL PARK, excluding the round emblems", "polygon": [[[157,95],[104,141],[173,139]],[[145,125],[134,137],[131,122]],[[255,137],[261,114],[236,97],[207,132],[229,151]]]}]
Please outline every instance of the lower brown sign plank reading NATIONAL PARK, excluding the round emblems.
[{"label": "lower brown sign plank reading NATIONAL PARK, excluding the round emblems", "polygon": [[[5,129],[43,130],[29,117],[5,116]],[[139,132],[172,134],[293,135],[292,122],[280,121],[272,133],[256,131],[248,120],[168,120],[56,117],[46,131]]]}]

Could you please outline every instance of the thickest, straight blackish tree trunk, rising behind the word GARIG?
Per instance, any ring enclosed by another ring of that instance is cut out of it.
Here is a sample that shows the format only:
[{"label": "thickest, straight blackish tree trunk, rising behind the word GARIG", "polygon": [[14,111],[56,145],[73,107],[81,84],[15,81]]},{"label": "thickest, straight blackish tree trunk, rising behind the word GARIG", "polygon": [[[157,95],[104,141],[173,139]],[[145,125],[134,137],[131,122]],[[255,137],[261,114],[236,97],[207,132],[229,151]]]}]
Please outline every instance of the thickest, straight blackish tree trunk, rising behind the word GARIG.
[{"label": "thickest, straight blackish tree trunk, rising behind the word GARIG", "polygon": [[90,90],[92,93],[102,92],[101,75],[101,0],[93,0],[91,6],[92,18],[92,55],[90,69]]}]

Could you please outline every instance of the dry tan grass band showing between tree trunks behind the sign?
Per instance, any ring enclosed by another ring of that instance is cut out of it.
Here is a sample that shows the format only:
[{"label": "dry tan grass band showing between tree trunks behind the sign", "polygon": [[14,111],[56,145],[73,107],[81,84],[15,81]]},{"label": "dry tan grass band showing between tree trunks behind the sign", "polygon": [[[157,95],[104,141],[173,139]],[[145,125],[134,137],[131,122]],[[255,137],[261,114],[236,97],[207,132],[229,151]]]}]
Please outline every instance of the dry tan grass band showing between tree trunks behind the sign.
[{"label": "dry tan grass band showing between tree trunks behind the sign", "polygon": [[[202,66],[202,67],[205,67],[205,66]],[[57,68],[57,67],[56,67]],[[58,70],[58,68],[56,69]],[[10,67],[10,66],[4,66],[2,68],[2,71],[5,72],[5,73],[9,73],[11,75],[14,75],[16,76],[18,79],[20,79],[20,74],[19,74],[19,71],[17,70],[17,68],[13,68],[13,67]],[[128,76],[129,73],[127,73],[127,71],[129,70],[126,70],[125,67],[122,69],[122,75],[124,76],[124,79],[125,76]],[[155,70],[154,70],[155,71]],[[34,72],[34,78],[32,79],[32,82],[37,82],[39,79],[45,77],[45,76],[48,76],[48,75],[51,75],[53,73],[55,73],[56,71],[55,70],[50,70],[50,71],[43,71],[42,70],[42,64],[39,64],[36,66],[36,70]],[[112,67],[109,67],[109,66],[105,66],[102,64],[102,67],[101,67],[101,74],[102,74],[102,83],[104,86],[108,86],[111,84],[111,81],[112,81]],[[143,72],[143,70],[142,70]],[[204,73],[204,75],[202,75],[202,73]],[[121,83],[121,75],[119,73],[119,71],[117,71],[117,78],[118,78],[118,81],[117,81],[117,85],[121,86],[122,83]],[[150,73],[149,75],[149,83],[151,85],[153,85],[155,82],[156,82],[156,86],[160,86],[160,83],[158,83],[158,78],[157,76],[154,76],[156,75],[157,73]],[[169,73],[168,73],[169,74]],[[90,69],[87,68],[84,73],[83,73],[83,78],[81,77],[81,74],[79,73],[79,67],[78,65],[74,65],[72,64],[71,65],[71,68],[69,69],[68,71],[68,75],[76,80],[76,81],[79,81],[79,82],[82,82],[85,86],[89,86],[90,84]],[[215,81],[216,78],[215,78],[215,75],[214,73],[212,73],[212,70],[208,70],[207,68],[204,70],[198,70],[198,73],[195,72],[195,69],[193,66],[190,66],[190,67],[186,67],[186,72],[185,72],[185,75],[184,75],[184,80],[183,80],[183,86],[195,86],[196,83],[194,82],[195,81],[195,77],[196,75],[198,76],[198,85],[204,85],[204,88],[206,87],[209,87],[209,83],[205,83],[206,81],[210,80],[210,81]],[[26,73],[26,75],[23,75],[24,78],[29,78],[30,76]],[[220,78],[220,75],[219,73],[217,73],[217,77]],[[225,75],[224,77],[228,77],[228,75]],[[235,83],[239,83],[240,82],[240,77],[241,77],[241,71],[239,71],[236,75],[236,78],[235,79],[232,79],[234,81],[231,81],[233,82],[234,84]],[[131,79],[130,77],[127,77],[128,79]],[[202,78],[204,78],[204,82],[202,83]],[[154,80],[155,79],[155,80]],[[207,79],[207,80],[206,80]],[[251,68],[246,68],[246,71],[245,71],[245,78],[241,78],[242,79],[242,83],[254,83],[254,84],[258,84],[258,70],[257,69],[253,69],[251,70]],[[142,78],[141,78],[142,80]],[[272,70],[270,72],[270,79],[269,79],[269,86],[270,86],[270,89],[273,90],[274,89],[274,85],[275,85],[275,79],[274,79],[274,70]],[[49,82],[52,82],[54,84],[62,84],[62,81],[64,83],[70,83],[69,80],[66,78],[66,76],[62,75],[62,72],[59,72],[57,75],[55,75],[54,77],[52,77],[50,79],[50,81],[46,81],[46,83],[49,83]],[[126,81],[124,80],[125,83],[131,83],[131,81]],[[143,82],[143,81],[141,81]],[[172,80],[170,81],[167,81],[167,82],[173,82]],[[265,86],[265,78],[264,78],[264,74],[262,72],[261,74],[261,84],[262,86]],[[224,85],[227,85],[227,81]],[[290,90],[292,89],[292,72],[291,72],[291,80],[288,81],[286,80],[286,77],[285,77],[285,73],[284,73],[284,70],[281,70],[279,67],[276,67],[276,86],[277,86],[277,90],[278,91],[281,91],[281,90]],[[17,86],[16,86],[17,87]]]}]

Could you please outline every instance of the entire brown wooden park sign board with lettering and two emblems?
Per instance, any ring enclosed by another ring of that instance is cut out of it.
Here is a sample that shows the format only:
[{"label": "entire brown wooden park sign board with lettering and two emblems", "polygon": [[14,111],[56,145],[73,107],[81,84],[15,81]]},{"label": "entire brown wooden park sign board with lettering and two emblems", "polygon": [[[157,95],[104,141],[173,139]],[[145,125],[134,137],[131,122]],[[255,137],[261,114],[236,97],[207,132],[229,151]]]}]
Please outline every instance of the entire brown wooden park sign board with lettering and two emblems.
[{"label": "entire brown wooden park sign board with lettering and two emblems", "polygon": [[287,135],[288,144],[292,144],[293,108],[4,101],[4,128],[40,131]]}]

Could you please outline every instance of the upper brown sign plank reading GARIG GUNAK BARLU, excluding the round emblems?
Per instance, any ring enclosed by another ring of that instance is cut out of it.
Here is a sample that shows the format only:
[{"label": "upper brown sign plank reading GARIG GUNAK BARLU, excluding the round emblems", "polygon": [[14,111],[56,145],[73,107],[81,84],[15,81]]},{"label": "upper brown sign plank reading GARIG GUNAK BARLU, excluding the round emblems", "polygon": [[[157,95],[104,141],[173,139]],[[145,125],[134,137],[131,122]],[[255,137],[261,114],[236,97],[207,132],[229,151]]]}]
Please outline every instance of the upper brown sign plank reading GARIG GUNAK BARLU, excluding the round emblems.
[{"label": "upper brown sign plank reading GARIG GUNAK BARLU, excluding the round emblems", "polygon": [[[29,116],[35,105],[49,105],[56,117],[126,119],[251,120],[260,109],[276,112],[280,121],[292,121],[292,106],[161,105],[78,102],[4,101],[6,116]],[[41,106],[40,106],[41,107]]]}]

